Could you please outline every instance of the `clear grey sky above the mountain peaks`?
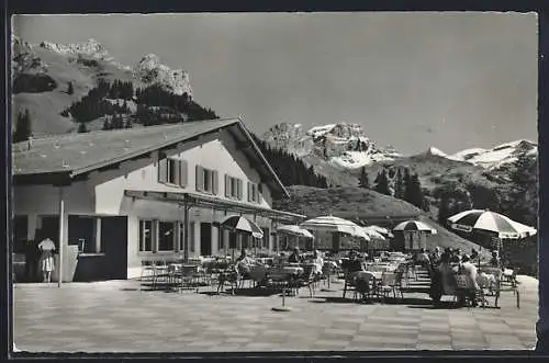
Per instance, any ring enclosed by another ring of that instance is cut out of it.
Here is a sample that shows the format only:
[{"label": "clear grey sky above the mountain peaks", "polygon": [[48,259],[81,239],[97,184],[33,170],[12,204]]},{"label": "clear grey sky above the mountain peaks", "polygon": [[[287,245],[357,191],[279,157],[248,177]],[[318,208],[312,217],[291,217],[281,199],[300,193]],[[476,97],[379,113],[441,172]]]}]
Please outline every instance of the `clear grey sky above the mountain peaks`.
[{"label": "clear grey sky above the mountain peaks", "polygon": [[25,15],[13,31],[91,37],[130,66],[156,54],[189,72],[197,102],[258,135],[357,123],[405,154],[538,139],[535,13]]}]

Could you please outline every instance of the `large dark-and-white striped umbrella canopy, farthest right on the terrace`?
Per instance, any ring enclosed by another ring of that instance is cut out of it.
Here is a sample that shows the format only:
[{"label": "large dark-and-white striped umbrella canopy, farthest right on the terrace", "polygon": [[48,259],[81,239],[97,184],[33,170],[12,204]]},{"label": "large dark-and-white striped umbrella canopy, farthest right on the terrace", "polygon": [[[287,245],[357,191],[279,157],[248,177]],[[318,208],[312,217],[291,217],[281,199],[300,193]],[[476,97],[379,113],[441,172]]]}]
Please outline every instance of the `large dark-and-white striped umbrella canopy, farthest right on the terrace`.
[{"label": "large dark-and-white striped umbrella canopy, farthest right on the terrace", "polygon": [[482,209],[458,213],[449,217],[448,222],[452,229],[467,232],[489,231],[496,234],[500,239],[518,239],[537,234],[536,228],[523,225],[502,214]]}]

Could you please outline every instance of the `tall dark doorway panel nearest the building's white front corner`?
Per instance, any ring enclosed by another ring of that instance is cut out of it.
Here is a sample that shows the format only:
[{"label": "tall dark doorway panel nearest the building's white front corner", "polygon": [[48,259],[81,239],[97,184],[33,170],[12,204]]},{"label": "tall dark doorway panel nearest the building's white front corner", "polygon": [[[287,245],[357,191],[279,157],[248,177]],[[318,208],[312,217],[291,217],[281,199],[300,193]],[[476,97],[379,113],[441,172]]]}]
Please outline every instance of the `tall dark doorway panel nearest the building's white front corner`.
[{"label": "tall dark doorway panel nearest the building's white front corner", "polygon": [[127,279],[127,217],[101,217],[101,251],[105,279]]}]

